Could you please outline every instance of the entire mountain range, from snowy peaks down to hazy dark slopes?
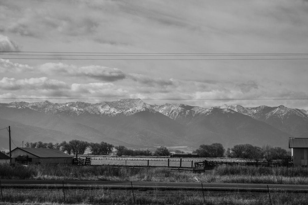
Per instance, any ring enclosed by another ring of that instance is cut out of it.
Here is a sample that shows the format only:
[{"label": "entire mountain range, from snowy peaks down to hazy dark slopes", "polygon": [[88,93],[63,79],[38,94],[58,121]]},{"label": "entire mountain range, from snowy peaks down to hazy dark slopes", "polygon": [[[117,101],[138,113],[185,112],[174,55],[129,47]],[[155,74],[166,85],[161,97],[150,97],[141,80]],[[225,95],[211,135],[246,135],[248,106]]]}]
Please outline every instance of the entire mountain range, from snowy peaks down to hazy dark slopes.
[{"label": "entire mountain range, from snowy peaks down to hazy dark slopes", "polygon": [[[0,104],[0,128],[10,125],[12,147],[26,142],[73,139],[107,142],[129,148],[221,143],[288,148],[289,137],[306,137],[306,110],[283,105],[201,108],[185,104],[151,105],[140,99],[96,104],[85,102],[11,102]],[[0,131],[0,147],[8,134]]]}]

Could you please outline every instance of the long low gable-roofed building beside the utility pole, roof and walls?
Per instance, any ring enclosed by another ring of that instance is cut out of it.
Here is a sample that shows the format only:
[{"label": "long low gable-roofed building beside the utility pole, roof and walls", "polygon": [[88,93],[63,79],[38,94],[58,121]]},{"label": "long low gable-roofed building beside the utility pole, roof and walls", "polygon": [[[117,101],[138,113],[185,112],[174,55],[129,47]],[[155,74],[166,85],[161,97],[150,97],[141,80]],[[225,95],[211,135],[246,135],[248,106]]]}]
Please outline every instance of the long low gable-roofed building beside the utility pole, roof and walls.
[{"label": "long low gable-roofed building beside the utility pole, roof and walls", "polygon": [[20,148],[12,151],[12,164],[29,162],[35,164],[72,164],[73,157],[57,149]]}]

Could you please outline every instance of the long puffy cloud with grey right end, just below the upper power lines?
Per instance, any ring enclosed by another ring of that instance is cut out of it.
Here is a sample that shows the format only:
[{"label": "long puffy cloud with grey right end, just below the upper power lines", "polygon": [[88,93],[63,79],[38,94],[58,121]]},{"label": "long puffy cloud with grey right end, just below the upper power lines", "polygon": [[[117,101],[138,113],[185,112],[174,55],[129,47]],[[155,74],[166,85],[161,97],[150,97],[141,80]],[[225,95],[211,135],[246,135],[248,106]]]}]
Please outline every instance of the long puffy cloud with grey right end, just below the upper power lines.
[{"label": "long puffy cloud with grey right end, just below the upper power lines", "polygon": [[47,73],[62,73],[69,76],[87,76],[102,81],[117,81],[126,77],[125,73],[117,68],[108,68],[100,65],[88,65],[77,67],[63,63],[45,63],[40,66]]}]

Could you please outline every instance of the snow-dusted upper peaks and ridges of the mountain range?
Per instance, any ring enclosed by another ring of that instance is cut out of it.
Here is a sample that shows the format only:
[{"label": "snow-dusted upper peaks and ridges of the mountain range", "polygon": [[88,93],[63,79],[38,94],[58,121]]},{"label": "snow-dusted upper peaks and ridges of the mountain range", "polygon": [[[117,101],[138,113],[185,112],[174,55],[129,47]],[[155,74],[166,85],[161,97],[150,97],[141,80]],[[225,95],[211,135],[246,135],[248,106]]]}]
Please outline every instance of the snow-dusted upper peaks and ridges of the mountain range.
[{"label": "snow-dusted upper peaks and ridges of the mountain range", "polygon": [[[30,108],[39,112],[57,114],[67,113],[73,115],[80,115],[84,113],[96,114],[101,116],[121,116],[132,115],[141,111],[160,112],[173,120],[190,118],[207,114],[210,109],[201,108],[197,106],[189,106],[185,104],[169,104],[150,105],[143,102],[141,99],[123,99],[113,102],[101,102],[96,104],[85,102],[68,102],[68,103],[51,103],[49,101],[27,103],[27,102],[11,102],[7,104],[8,107],[14,108]],[[220,107],[224,112],[233,110],[244,115],[248,115],[257,120],[266,120],[271,117],[286,118],[290,115],[296,115],[303,119],[308,119],[307,111],[300,109],[286,108],[283,105],[278,107],[268,107],[265,105],[259,107],[243,107],[241,105],[227,105]]]}]

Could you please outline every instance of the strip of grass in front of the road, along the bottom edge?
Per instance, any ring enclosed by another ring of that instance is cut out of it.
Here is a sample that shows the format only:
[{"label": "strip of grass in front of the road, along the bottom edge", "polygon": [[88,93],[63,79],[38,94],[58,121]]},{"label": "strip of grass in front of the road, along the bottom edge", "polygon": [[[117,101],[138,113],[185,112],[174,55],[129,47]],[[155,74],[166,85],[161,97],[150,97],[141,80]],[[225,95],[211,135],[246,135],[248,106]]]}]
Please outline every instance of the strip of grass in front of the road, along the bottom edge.
[{"label": "strip of grass in front of the road, along the bottom edge", "polygon": [[[131,190],[108,189],[2,189],[0,204],[134,204]],[[205,198],[203,199],[203,194]],[[225,191],[134,190],[135,204],[270,204],[268,193]],[[306,204],[307,193],[271,193],[273,204]]]}]

